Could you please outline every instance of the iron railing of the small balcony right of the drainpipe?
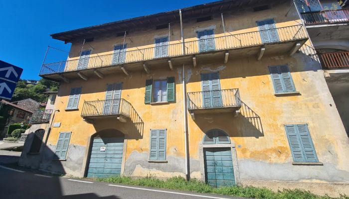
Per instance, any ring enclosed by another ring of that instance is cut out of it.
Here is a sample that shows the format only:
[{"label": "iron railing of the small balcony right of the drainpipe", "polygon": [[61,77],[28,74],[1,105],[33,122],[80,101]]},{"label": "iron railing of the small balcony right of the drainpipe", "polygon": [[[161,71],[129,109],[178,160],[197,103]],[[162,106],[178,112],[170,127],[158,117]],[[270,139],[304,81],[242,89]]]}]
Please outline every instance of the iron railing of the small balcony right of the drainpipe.
[{"label": "iron railing of the small balcony right of the drainpipe", "polygon": [[187,93],[188,110],[241,107],[239,89]]}]

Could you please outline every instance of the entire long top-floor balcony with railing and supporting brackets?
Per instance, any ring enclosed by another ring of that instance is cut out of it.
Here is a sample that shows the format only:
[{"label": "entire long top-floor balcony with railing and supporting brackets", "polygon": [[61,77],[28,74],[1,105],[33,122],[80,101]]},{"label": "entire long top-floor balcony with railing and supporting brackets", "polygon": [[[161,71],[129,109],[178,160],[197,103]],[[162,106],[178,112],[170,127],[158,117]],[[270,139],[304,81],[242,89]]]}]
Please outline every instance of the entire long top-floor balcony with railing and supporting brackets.
[{"label": "entire long top-floor balcony with railing and supporting brackets", "polygon": [[[276,36],[273,39],[266,40],[265,37],[269,37],[269,34]],[[261,35],[263,35],[263,38]],[[63,79],[64,75],[66,78],[80,77],[86,80],[94,74],[102,78],[103,73],[99,72],[124,72],[128,75],[128,71],[143,68],[147,72],[148,65],[158,64],[163,67],[165,63],[171,69],[173,69],[174,64],[182,63],[191,63],[196,66],[196,58],[202,58],[202,60],[204,58],[207,60],[219,58],[226,63],[229,54],[231,57],[256,55],[259,60],[264,50],[266,50],[266,54],[285,52],[293,54],[307,39],[307,34],[302,25],[239,34],[226,32],[225,36],[186,41],[183,44],[179,41],[170,41],[171,44],[169,45],[151,48],[139,46],[127,48],[121,53],[99,56],[92,54],[89,58],[47,63],[42,65],[40,76],[60,80]],[[210,43],[210,47],[207,47],[208,43]],[[182,52],[182,45],[184,45],[184,52]],[[205,55],[203,56],[203,54]],[[98,69],[97,72],[96,69]]]}]

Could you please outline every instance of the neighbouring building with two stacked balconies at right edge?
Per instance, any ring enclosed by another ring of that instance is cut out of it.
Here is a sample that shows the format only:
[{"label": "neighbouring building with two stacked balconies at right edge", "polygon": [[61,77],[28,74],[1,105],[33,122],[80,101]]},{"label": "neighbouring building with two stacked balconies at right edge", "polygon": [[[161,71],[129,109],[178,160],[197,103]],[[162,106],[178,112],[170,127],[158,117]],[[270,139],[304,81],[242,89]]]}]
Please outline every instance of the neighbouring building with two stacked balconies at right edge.
[{"label": "neighbouring building with two stacked balconies at right edge", "polygon": [[349,136],[348,0],[296,0],[337,109]]}]

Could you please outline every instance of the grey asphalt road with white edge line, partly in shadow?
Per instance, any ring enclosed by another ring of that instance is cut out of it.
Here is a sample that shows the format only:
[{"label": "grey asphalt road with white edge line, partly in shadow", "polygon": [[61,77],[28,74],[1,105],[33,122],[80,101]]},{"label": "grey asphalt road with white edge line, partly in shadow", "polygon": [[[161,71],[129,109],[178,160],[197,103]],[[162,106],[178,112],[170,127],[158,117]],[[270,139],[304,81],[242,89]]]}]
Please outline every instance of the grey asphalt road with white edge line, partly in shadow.
[{"label": "grey asphalt road with white edge line, partly in shadow", "polygon": [[[0,159],[3,156],[0,156]],[[1,163],[1,160],[0,160]],[[1,199],[237,199],[34,173],[0,164]]]}]

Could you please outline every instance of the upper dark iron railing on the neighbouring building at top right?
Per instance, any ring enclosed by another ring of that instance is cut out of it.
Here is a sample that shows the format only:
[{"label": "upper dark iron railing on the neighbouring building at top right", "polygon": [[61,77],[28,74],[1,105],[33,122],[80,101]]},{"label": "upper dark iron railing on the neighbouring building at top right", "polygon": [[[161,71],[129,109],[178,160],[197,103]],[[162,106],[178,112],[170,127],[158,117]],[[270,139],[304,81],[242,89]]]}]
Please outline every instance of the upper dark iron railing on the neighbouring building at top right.
[{"label": "upper dark iron railing on the neighbouring building at top right", "polygon": [[306,25],[349,22],[349,9],[302,12]]}]

